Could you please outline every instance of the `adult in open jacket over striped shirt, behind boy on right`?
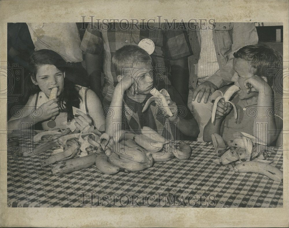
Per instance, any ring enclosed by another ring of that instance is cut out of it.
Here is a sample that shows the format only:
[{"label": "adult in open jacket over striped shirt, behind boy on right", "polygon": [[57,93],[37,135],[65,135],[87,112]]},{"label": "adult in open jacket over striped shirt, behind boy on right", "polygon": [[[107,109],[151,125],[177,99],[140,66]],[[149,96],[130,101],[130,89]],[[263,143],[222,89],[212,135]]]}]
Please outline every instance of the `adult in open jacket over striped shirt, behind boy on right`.
[{"label": "adult in open jacket over striped shirt, behind boy on right", "polygon": [[196,118],[203,141],[203,129],[211,118],[210,95],[230,84],[233,53],[258,43],[255,23],[191,23],[188,29],[193,55],[188,58],[188,107]]}]

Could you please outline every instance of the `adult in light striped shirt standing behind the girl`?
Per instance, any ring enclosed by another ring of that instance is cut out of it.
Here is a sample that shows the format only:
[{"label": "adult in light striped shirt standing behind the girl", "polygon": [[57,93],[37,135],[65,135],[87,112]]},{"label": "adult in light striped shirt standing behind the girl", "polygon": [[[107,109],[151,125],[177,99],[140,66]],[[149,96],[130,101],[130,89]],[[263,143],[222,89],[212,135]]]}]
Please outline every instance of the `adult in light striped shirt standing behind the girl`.
[{"label": "adult in light striped shirt standing behind the girl", "polygon": [[66,77],[74,84],[88,87],[82,66],[81,40],[76,23],[27,23],[35,51],[49,49],[58,53],[67,65]]}]

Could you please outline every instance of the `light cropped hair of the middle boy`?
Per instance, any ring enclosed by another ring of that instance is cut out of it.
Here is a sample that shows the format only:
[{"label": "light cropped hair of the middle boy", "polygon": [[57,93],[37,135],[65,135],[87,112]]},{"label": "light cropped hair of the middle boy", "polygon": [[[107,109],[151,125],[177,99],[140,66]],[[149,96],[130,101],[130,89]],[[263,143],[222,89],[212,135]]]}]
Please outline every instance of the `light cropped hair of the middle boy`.
[{"label": "light cropped hair of the middle boy", "polygon": [[139,61],[151,61],[151,56],[137,45],[125,45],[118,49],[112,57],[116,75],[121,75],[121,69],[125,67],[125,64],[135,65]]}]

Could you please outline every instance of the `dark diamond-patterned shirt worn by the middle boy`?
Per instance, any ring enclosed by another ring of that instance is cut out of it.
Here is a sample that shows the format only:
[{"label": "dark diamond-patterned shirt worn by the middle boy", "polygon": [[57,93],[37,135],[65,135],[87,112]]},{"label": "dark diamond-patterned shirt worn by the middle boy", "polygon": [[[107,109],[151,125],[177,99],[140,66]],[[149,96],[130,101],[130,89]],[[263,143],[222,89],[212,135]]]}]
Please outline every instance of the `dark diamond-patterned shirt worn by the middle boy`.
[{"label": "dark diamond-patterned shirt worn by the middle boy", "polygon": [[[170,94],[171,99],[176,102],[178,106],[178,115],[185,119],[192,119],[193,116],[191,112],[188,110],[175,88],[171,85],[167,85],[166,89]],[[148,94],[144,101],[137,102],[124,95],[123,120],[125,120],[125,130],[139,133],[141,128],[146,126],[158,131],[165,138],[172,140],[182,139],[183,134],[177,129],[177,123],[166,119],[155,102],[152,102],[149,108],[145,112],[142,112],[145,103],[151,96],[151,94]]]}]

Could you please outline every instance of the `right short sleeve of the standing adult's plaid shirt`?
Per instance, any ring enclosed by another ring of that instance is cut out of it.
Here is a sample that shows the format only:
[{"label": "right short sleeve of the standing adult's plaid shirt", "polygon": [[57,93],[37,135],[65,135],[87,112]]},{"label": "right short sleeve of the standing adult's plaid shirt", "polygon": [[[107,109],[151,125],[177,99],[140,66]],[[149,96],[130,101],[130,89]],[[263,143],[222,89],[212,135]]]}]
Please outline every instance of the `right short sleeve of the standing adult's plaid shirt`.
[{"label": "right short sleeve of the standing adult's plaid shirt", "polygon": [[186,31],[177,29],[165,30],[164,38],[164,48],[169,60],[192,55],[193,52]]}]

